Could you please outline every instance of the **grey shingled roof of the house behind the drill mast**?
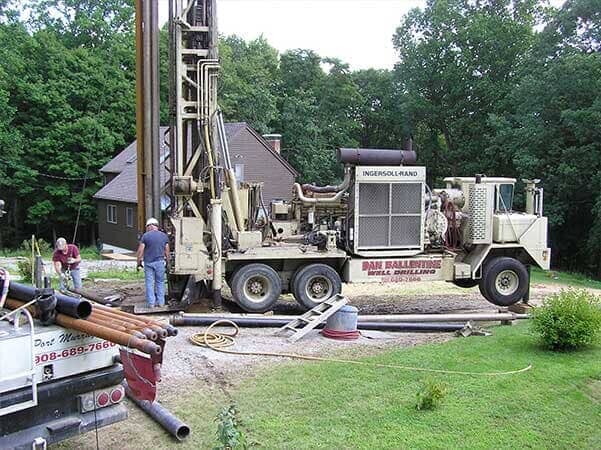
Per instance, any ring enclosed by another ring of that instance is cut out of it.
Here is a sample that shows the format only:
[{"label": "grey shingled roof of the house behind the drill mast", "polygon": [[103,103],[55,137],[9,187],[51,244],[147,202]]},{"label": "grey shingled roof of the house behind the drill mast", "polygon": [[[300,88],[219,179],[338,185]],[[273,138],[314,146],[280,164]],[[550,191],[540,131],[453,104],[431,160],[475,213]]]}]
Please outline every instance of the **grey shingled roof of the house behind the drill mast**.
[{"label": "grey shingled roof of the house behind the drill mast", "polygon": [[[266,151],[273,154],[287,170],[295,177],[298,172],[286,161],[278,152],[273,150],[271,146],[253,130],[246,122],[235,122],[225,124],[225,134],[228,141],[234,139],[242,130],[248,129],[250,133],[257,138],[263,145]],[[168,131],[168,127],[161,127],[161,153],[166,155],[168,152],[167,146],[164,144],[163,137]],[[168,156],[167,156],[168,157]],[[102,200],[112,200],[116,202],[137,203],[138,201],[138,177],[137,177],[137,141],[128,145],[121,153],[115,156],[111,161],[100,169],[102,173],[118,174],[113,180],[102,187],[94,198]],[[163,163],[161,167],[164,167]],[[167,171],[161,170],[161,186],[167,182]]]}]

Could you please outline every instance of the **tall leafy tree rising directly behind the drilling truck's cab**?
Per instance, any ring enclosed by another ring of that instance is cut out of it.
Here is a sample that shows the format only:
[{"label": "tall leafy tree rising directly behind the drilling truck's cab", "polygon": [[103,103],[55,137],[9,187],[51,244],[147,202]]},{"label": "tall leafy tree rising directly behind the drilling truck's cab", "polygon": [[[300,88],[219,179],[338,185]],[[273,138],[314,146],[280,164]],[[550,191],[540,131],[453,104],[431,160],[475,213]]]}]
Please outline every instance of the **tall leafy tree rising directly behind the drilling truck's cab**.
[{"label": "tall leafy tree rising directly behind the drilling truck's cab", "polygon": [[488,116],[512,89],[533,39],[536,1],[430,0],[394,36],[396,77],[411,123],[442,138],[434,175],[507,173],[503,156],[483,155]]}]

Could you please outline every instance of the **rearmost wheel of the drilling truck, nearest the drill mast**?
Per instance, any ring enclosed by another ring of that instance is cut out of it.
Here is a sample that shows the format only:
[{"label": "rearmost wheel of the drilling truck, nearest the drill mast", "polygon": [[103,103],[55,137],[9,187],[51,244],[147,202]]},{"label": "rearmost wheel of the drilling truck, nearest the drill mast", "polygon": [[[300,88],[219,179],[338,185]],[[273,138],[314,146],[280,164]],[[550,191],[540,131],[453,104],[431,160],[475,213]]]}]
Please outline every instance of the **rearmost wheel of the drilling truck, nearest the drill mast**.
[{"label": "rearmost wheel of the drilling truck, nearest the drill mast", "polygon": [[236,270],[230,286],[234,300],[248,312],[265,312],[282,293],[282,280],[265,264],[249,264]]}]

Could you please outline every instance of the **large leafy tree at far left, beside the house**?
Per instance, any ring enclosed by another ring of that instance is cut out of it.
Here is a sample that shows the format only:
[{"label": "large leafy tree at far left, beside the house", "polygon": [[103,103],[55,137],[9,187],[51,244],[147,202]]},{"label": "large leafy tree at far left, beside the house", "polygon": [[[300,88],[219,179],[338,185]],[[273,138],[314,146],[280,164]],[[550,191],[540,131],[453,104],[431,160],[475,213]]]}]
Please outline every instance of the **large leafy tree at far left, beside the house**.
[{"label": "large leafy tree at far left, beside the house", "polygon": [[[18,21],[0,25],[0,58],[10,86],[6,107],[0,107],[11,112],[11,129],[27,142],[12,158],[11,185],[2,188],[21,233],[26,224],[36,233],[72,233],[80,207],[81,224],[89,229],[96,221],[98,169],[134,136],[133,36],[116,22],[109,22],[116,29],[101,32],[108,25],[100,24],[95,2],[75,3],[34,5],[40,14],[52,5],[81,6],[77,14],[59,16],[62,21],[33,14],[29,30]],[[98,20],[85,20],[83,12]]]}]

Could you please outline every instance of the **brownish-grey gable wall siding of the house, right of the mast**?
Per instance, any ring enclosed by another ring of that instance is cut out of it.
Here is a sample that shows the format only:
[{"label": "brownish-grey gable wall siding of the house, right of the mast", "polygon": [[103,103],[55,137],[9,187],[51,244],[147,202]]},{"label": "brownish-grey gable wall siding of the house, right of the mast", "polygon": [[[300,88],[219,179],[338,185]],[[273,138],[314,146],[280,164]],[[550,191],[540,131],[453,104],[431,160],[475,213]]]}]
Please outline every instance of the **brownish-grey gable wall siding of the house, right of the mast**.
[{"label": "brownish-grey gable wall siding of the house, right of the mast", "polygon": [[229,144],[232,166],[244,164],[244,181],[264,183],[263,198],[267,207],[273,199],[292,198],[294,175],[248,128]]}]

